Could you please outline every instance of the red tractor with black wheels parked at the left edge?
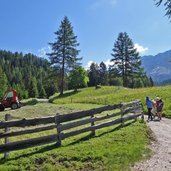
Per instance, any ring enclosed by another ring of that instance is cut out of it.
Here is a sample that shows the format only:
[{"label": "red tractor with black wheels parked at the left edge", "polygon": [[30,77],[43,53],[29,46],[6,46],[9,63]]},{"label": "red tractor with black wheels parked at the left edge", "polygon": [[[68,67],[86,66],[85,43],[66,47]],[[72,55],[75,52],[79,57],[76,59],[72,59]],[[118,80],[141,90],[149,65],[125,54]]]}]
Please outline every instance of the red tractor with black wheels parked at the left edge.
[{"label": "red tractor with black wheels parked at the left edge", "polygon": [[16,90],[11,90],[5,94],[4,98],[0,101],[0,111],[4,111],[5,108],[17,109],[21,107],[18,100]]}]

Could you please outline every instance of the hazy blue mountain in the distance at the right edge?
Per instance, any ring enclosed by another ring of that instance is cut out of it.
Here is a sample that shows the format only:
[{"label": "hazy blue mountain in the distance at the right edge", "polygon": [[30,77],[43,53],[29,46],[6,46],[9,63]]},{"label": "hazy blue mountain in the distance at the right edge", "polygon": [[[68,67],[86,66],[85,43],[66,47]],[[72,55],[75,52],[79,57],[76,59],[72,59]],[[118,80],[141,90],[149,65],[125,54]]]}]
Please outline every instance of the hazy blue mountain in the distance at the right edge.
[{"label": "hazy blue mountain in the distance at the right edge", "polygon": [[142,66],[156,84],[171,83],[171,50],[155,56],[143,56]]}]

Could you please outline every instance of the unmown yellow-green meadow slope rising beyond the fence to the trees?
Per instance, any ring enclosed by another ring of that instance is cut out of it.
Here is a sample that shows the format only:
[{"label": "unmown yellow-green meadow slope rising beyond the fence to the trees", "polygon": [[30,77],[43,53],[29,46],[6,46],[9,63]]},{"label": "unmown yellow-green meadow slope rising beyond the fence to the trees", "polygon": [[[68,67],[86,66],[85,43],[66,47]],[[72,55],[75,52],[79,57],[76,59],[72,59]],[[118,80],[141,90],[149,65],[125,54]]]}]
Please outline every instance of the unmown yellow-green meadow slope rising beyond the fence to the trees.
[{"label": "unmown yellow-green meadow slope rising beyond the fence to the trees", "polygon": [[[171,101],[170,101],[171,86],[163,87],[151,87],[151,88],[139,88],[128,89],[123,87],[102,87],[96,89],[94,87],[81,89],[78,93],[72,94],[68,92],[65,94],[65,98],[51,97],[56,104],[68,104],[68,103],[90,103],[90,104],[116,104],[120,102],[129,102],[135,99],[140,99],[143,103],[144,110],[145,97],[149,96],[151,99],[155,99],[157,96],[161,97],[164,101],[163,113],[166,116],[171,116]],[[72,95],[71,95],[72,94]]]}]

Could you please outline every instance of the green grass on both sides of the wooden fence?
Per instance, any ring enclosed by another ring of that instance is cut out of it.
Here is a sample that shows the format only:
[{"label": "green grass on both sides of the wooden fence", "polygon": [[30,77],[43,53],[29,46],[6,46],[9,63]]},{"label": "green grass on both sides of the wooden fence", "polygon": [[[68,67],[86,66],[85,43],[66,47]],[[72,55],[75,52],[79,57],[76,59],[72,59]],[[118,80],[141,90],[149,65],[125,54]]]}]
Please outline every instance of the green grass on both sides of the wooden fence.
[{"label": "green grass on both sides of the wooden fence", "polygon": [[[122,87],[102,87],[100,89],[81,89],[78,93],[65,92],[64,97],[51,97],[54,104],[35,104],[24,106],[18,110],[6,110],[0,113],[0,120],[6,113],[13,119],[53,116],[56,113],[97,108],[103,105],[129,102],[145,96],[160,96],[165,102],[164,112],[169,116],[169,92],[171,87],[153,87],[147,89],[125,89]],[[145,108],[145,105],[144,105]],[[170,112],[170,113],[169,113]],[[47,135],[56,130],[39,133]],[[150,156],[148,149],[150,130],[145,123],[139,121],[121,127],[120,125],[90,133],[80,134],[62,141],[62,146],[49,144],[21,151],[11,152],[9,159],[4,160],[1,154],[0,171],[125,171],[131,166]],[[35,135],[34,135],[35,136]],[[36,135],[37,136],[37,135]],[[32,137],[32,135],[29,135]],[[23,139],[18,137],[14,140]],[[28,138],[28,137],[27,137]]]}]

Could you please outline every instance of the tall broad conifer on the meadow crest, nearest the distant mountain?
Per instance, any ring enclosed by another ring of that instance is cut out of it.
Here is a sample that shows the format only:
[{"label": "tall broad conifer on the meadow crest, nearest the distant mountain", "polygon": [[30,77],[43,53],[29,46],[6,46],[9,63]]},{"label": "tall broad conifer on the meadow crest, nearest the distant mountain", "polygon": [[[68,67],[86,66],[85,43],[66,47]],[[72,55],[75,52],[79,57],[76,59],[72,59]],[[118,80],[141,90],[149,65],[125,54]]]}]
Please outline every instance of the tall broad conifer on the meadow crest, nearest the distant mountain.
[{"label": "tall broad conifer on the meadow crest, nearest the distant mountain", "polygon": [[139,76],[142,69],[139,53],[126,32],[119,33],[112,51],[111,62],[114,63],[112,67],[116,76],[122,77],[124,87],[132,87],[133,77]]}]

